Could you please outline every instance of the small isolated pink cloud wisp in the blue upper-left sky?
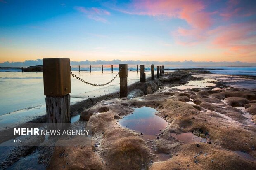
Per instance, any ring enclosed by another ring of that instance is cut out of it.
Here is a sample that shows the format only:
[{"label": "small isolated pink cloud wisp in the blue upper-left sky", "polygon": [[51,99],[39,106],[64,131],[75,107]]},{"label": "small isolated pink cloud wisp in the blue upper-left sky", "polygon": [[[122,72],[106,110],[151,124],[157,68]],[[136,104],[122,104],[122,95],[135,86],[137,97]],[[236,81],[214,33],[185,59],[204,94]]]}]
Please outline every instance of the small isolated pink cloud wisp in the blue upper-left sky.
[{"label": "small isolated pink cloud wisp in the blue upper-left sky", "polygon": [[107,16],[110,15],[110,12],[104,10],[104,9],[99,9],[99,8],[86,8],[86,7],[74,7],[78,12],[81,12],[85,14],[89,19],[93,19],[95,21],[100,21],[103,23],[107,23],[107,19],[103,18],[102,16]]}]

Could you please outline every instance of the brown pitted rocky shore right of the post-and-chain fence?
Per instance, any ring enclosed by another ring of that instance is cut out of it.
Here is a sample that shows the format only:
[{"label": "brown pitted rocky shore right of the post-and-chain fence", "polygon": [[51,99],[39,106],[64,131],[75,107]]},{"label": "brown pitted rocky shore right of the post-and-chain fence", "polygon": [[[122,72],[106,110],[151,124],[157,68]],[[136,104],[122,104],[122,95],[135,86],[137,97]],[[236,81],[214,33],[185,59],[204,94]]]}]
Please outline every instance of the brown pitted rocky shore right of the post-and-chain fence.
[{"label": "brown pitted rocky shore right of the post-and-chain fence", "polygon": [[[165,73],[159,80],[130,86],[128,98],[102,98],[84,110],[79,106],[80,121],[74,124],[91,127],[91,145],[33,148],[39,150],[39,162],[49,170],[253,170],[256,89],[232,88],[223,81],[215,81],[216,86],[175,88],[204,81],[192,76],[201,74],[197,71]],[[142,107],[155,109],[167,126],[148,135],[143,128],[120,124]],[[10,160],[4,163],[1,166],[8,167]]]}]

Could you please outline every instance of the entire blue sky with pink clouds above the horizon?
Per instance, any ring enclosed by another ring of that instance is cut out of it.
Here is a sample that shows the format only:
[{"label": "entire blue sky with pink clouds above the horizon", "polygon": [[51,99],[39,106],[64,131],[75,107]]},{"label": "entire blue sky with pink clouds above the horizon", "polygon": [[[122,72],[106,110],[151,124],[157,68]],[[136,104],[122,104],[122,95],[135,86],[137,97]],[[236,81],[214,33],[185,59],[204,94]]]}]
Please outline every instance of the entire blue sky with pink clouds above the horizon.
[{"label": "entire blue sky with pink clouds above the horizon", "polygon": [[0,0],[0,63],[256,63],[254,0]]}]

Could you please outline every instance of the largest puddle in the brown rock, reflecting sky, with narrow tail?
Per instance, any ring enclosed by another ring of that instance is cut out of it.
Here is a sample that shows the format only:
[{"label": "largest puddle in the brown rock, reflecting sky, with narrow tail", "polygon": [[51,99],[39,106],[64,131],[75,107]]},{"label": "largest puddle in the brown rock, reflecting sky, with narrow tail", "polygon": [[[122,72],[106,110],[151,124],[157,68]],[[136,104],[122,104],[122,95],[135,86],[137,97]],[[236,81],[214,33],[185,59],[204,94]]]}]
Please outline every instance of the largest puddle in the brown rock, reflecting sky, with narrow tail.
[{"label": "largest puddle in the brown rock, reflecting sky, with narrow tail", "polygon": [[124,116],[120,121],[120,125],[138,133],[141,133],[143,140],[147,141],[147,145],[156,154],[155,161],[164,161],[170,158],[168,154],[158,153],[153,148],[153,141],[156,140],[161,129],[166,128],[168,122],[157,116],[156,109],[151,107],[134,108],[133,114]]}]

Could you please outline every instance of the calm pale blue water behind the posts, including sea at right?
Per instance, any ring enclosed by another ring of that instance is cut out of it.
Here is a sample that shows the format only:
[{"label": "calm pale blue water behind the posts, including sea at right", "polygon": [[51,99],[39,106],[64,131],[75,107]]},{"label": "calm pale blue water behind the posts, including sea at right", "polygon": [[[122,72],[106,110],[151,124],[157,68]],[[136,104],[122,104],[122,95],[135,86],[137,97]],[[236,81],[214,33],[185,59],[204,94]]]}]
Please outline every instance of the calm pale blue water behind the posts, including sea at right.
[{"label": "calm pale blue water behind the posts, including sea at right", "polygon": [[[200,67],[201,68],[201,67]],[[130,70],[136,70],[136,66],[130,66]],[[165,69],[175,69],[175,67],[165,66]],[[256,67],[207,67],[216,74],[228,75],[249,75],[256,76]],[[78,77],[94,83],[104,84],[113,79],[118,67],[114,67],[111,73],[111,66],[105,67],[102,73],[101,67],[92,67],[89,72],[88,66],[72,66],[72,72]],[[145,66],[146,76],[149,77],[150,66]],[[173,71],[173,70],[166,70]],[[140,74],[128,72],[128,84],[139,81]],[[45,114],[45,96],[43,93],[43,72],[21,72],[20,69],[0,69],[0,123],[24,123],[31,121],[38,116]],[[119,90],[119,77],[108,86],[109,91],[103,92],[102,87],[90,86],[71,77],[71,104],[84,100],[81,96],[94,97],[104,95]]]}]

